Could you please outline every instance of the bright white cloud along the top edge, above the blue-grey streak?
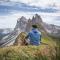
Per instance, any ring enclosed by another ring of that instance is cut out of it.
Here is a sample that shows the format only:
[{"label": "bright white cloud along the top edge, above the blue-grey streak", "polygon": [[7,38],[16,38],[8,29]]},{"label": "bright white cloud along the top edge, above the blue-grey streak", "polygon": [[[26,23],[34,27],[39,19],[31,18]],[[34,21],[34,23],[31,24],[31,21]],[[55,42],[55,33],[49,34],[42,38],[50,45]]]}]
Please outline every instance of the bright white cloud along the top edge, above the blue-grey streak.
[{"label": "bright white cloud along the top edge, above the blue-grey streak", "polygon": [[60,6],[60,0],[11,0],[16,2],[23,2],[30,5],[40,6],[40,5],[48,5],[48,4],[56,4],[57,6]]}]

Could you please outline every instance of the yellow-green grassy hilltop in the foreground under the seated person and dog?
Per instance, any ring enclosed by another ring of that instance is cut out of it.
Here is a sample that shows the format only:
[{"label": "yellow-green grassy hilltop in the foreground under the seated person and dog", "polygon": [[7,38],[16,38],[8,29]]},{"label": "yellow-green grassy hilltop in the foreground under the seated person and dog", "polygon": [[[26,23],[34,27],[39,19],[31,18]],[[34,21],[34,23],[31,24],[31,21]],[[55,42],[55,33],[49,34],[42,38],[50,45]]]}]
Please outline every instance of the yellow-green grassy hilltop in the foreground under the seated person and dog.
[{"label": "yellow-green grassy hilltop in the foreground under the seated person and dog", "polygon": [[0,60],[56,60],[55,42],[47,38],[42,42],[46,44],[0,48]]}]

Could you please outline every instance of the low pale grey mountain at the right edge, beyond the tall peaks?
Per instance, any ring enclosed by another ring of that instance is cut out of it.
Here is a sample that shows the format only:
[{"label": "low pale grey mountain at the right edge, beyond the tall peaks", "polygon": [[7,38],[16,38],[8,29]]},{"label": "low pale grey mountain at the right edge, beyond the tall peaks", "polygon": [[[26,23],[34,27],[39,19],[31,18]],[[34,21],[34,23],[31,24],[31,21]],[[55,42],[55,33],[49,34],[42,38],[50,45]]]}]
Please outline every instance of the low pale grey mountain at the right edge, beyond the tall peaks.
[{"label": "low pale grey mountain at the right edge, beyond the tall peaks", "polygon": [[44,23],[44,27],[46,31],[49,33],[49,35],[56,38],[60,38],[60,26]]}]

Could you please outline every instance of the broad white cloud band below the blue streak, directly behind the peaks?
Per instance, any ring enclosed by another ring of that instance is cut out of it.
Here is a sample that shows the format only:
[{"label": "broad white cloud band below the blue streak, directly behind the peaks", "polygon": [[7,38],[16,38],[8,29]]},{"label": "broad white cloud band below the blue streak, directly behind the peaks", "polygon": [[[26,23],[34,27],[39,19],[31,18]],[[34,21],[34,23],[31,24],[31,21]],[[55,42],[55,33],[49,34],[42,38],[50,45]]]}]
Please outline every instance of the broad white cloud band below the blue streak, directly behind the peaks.
[{"label": "broad white cloud band below the blue streak, directly behind the peaks", "polygon": [[[0,28],[14,28],[17,22],[17,19],[21,16],[26,17],[27,19],[32,18],[37,12],[16,12],[10,15],[0,16]],[[37,13],[42,17],[42,20],[46,23],[52,23],[60,26],[60,21],[56,23],[57,16],[60,16],[59,13]],[[55,19],[53,19],[55,18]],[[55,20],[55,21],[54,21]]]}]

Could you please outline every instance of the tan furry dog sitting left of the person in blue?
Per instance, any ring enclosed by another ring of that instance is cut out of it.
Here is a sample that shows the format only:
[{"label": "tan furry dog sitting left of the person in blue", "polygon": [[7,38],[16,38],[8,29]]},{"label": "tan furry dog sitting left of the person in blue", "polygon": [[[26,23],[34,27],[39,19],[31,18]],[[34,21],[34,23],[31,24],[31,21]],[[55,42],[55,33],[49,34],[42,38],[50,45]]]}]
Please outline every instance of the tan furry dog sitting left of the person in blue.
[{"label": "tan furry dog sitting left of the person in blue", "polygon": [[14,45],[28,45],[28,43],[26,42],[26,33],[25,32],[21,32],[18,37],[15,40]]}]

